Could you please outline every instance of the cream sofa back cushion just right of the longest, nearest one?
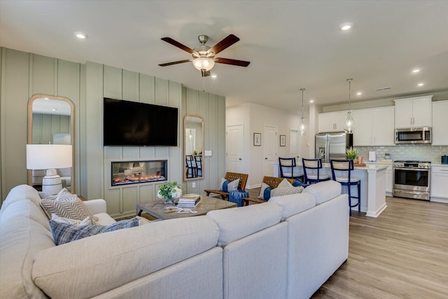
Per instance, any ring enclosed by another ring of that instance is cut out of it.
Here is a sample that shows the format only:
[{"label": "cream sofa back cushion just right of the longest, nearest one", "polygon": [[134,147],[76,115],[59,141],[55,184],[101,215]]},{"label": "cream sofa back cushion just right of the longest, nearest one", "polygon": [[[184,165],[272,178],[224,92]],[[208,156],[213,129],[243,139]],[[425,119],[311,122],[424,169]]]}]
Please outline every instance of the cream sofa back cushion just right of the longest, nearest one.
[{"label": "cream sofa back cushion just right of the longest, nearest one", "polygon": [[281,207],[277,204],[264,202],[246,207],[209,211],[207,216],[218,224],[220,231],[218,246],[225,246],[237,239],[279,223]]}]

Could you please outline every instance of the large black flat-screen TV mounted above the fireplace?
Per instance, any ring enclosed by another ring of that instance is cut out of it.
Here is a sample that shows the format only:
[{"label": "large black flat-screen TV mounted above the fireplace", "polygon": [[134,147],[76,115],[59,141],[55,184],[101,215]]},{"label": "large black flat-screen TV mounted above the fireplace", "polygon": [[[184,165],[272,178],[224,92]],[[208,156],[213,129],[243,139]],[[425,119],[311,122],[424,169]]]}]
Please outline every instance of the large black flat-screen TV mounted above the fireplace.
[{"label": "large black flat-screen TV mounted above the fireplace", "polygon": [[177,146],[178,109],[104,98],[104,146]]}]

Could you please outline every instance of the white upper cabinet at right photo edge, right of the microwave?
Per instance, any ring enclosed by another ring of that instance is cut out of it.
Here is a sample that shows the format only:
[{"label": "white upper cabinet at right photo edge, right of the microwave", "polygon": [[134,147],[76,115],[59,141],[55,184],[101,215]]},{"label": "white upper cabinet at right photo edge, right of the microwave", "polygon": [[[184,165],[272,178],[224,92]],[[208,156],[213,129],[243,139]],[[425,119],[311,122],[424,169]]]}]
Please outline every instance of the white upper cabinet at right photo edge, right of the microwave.
[{"label": "white upper cabinet at right photo edge, right of the microwave", "polygon": [[448,101],[433,102],[433,146],[448,146]]}]

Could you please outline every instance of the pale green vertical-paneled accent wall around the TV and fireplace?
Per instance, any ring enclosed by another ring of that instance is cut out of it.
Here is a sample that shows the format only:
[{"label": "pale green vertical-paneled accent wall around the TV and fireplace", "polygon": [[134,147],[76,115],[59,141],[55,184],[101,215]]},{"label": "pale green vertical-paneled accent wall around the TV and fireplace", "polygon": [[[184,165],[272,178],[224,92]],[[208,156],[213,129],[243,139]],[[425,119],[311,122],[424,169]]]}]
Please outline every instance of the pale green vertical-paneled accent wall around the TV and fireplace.
[{"label": "pale green vertical-paneled accent wall around the TV and fireplace", "polygon": [[[115,217],[135,214],[135,204],[153,200],[157,184],[110,188],[111,160],[169,160],[169,179],[183,183],[184,192],[215,188],[225,173],[225,97],[186,88],[181,83],[125,69],[1,48],[0,60],[0,193],[3,201],[14,186],[27,183],[27,104],[32,95],[67,97],[75,105],[76,193],[87,199],[104,198]],[[179,109],[177,147],[104,147],[103,97],[172,106]],[[205,120],[203,180],[195,188],[183,182],[183,116]]]}]

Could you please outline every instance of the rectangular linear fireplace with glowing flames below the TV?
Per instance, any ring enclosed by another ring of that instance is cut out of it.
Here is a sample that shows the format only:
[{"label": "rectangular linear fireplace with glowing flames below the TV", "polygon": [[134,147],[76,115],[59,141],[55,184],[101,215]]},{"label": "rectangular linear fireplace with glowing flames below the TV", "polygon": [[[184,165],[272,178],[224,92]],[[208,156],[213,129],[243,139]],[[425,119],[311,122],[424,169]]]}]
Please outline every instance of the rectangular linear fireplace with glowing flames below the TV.
[{"label": "rectangular linear fireplace with glowing flames below the TV", "polygon": [[111,186],[167,181],[167,160],[111,162]]}]

